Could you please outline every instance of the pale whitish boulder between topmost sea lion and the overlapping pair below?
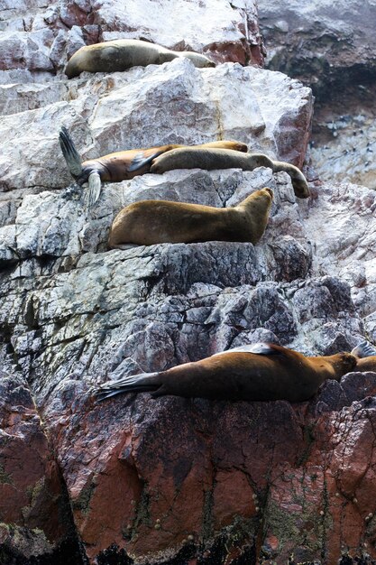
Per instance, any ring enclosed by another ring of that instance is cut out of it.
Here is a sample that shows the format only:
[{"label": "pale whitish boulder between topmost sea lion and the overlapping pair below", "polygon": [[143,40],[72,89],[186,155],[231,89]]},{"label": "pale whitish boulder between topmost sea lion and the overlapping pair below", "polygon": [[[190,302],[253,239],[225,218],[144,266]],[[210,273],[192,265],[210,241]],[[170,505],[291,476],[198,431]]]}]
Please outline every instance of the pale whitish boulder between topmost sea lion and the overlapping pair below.
[{"label": "pale whitish boulder between topmost sea lion and the overlapping pair below", "polygon": [[[46,95],[50,101],[50,91]],[[233,96],[240,108],[231,103]],[[25,193],[72,181],[57,144],[61,125],[83,159],[133,147],[235,138],[252,151],[299,166],[313,104],[309,88],[280,73],[234,63],[195,69],[188,60],[111,76],[87,74],[69,82],[64,98],[2,120],[1,225],[14,221]]]}]

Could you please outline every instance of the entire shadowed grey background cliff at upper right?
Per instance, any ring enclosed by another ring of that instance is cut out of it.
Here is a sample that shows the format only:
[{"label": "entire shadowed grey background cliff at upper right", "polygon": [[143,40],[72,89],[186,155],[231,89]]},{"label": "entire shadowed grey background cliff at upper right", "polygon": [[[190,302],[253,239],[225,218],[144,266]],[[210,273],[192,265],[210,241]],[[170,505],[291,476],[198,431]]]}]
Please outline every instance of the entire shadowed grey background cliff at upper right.
[{"label": "entire shadowed grey background cliff at upper right", "polygon": [[323,181],[375,189],[375,2],[259,0],[268,69],[314,90],[310,157]]}]

